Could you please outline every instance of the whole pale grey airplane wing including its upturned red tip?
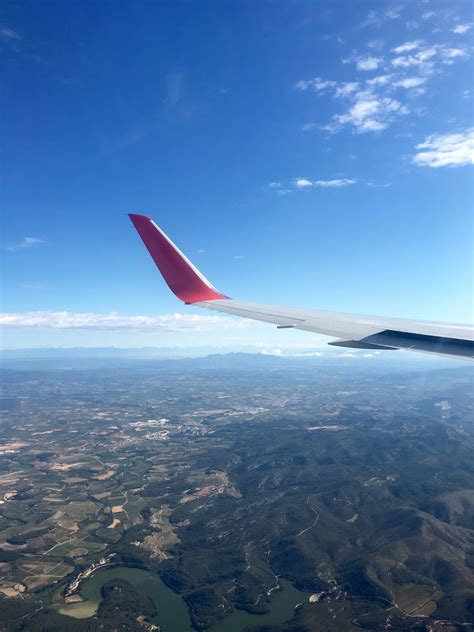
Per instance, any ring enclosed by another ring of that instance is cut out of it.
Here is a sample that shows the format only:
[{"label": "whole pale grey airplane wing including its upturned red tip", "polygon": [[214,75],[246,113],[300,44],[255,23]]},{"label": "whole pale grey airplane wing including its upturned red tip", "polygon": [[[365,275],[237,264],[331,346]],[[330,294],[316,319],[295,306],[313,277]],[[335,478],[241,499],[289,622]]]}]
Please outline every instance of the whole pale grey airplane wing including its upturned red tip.
[{"label": "whole pale grey airplane wing including its upturned red tip", "polygon": [[408,349],[458,359],[474,358],[469,325],[386,318],[249,303],[221,294],[145,215],[129,215],[171,291],[187,305],[337,338],[328,344],[356,349]]}]

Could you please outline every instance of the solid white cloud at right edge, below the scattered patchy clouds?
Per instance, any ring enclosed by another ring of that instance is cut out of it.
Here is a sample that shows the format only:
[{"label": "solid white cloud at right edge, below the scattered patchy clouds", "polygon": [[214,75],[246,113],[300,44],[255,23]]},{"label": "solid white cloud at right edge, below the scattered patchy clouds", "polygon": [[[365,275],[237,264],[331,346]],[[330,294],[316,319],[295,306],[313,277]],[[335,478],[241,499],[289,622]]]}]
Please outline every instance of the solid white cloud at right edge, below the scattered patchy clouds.
[{"label": "solid white cloud at right edge, below the scattered patchy clouds", "polygon": [[420,167],[459,167],[474,164],[474,128],[457,134],[428,136],[416,146],[413,162]]}]

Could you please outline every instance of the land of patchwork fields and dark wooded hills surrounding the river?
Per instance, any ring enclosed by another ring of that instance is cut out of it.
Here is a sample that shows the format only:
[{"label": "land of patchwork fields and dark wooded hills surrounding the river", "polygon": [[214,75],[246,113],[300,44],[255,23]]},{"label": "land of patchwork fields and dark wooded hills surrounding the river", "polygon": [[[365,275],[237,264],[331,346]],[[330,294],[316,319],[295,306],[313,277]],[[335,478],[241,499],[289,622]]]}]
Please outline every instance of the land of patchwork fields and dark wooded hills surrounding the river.
[{"label": "land of patchwork fields and dark wooded hills surrounding the river", "polygon": [[279,577],[317,602],[259,632],[472,628],[469,367],[214,359],[3,383],[0,630],[159,622],[166,604],[121,580],[92,618],[58,612],[106,564],[158,573],[197,628],[267,612]]}]

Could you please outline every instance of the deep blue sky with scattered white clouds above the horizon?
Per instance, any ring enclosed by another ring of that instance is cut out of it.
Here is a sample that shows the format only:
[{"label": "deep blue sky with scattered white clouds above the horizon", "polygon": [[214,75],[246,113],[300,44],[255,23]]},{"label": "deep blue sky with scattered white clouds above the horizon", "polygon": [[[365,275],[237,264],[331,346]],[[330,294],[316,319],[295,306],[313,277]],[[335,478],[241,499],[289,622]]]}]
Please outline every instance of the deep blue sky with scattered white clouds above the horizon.
[{"label": "deep blue sky with scattered white clouds above the horizon", "polygon": [[[4,3],[3,347],[311,346],[230,296],[472,319],[470,2]],[[110,317],[110,314],[114,315]]]}]

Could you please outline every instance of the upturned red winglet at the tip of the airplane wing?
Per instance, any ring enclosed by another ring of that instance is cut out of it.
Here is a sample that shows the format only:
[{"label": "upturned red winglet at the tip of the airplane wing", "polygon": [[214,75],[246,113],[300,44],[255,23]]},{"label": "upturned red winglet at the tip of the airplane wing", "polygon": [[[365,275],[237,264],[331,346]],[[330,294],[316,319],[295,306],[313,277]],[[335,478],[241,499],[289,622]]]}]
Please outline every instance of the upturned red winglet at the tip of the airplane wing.
[{"label": "upturned red winglet at the tip of the airplane wing", "polygon": [[218,292],[146,215],[129,215],[170,290],[185,303],[228,298]]}]

